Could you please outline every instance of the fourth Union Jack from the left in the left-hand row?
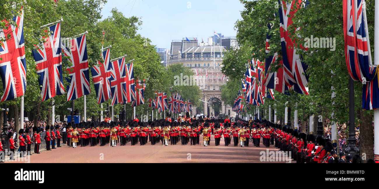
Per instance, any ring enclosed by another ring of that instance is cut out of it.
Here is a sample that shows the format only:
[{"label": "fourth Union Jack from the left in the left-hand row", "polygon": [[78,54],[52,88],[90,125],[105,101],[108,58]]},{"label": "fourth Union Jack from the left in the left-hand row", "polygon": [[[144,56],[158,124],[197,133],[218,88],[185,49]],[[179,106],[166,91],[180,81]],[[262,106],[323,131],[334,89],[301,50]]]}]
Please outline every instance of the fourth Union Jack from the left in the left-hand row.
[{"label": "fourth Union Jack from the left in the left-hand row", "polygon": [[91,67],[92,80],[94,82],[97,104],[103,103],[111,98],[111,63],[110,49],[103,51],[102,61],[98,61],[98,65]]}]

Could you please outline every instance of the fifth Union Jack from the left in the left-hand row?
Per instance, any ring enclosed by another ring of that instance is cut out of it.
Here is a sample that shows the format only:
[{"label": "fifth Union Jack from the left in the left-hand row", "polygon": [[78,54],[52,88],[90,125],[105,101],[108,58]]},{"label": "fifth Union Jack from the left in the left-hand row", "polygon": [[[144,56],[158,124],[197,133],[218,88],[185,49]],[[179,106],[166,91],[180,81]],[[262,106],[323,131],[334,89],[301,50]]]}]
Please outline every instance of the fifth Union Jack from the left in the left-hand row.
[{"label": "fifth Union Jack from the left in the left-hand row", "polygon": [[125,57],[111,62],[112,105],[127,102],[127,75],[125,69]]}]

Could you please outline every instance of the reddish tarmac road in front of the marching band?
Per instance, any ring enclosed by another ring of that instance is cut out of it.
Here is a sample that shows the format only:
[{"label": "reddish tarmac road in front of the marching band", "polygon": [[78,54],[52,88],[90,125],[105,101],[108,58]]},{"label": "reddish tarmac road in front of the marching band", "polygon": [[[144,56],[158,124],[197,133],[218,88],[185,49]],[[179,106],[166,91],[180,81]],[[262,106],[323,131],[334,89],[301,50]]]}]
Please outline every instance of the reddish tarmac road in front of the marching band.
[{"label": "reddish tarmac road in front of the marching band", "polygon": [[[201,140],[201,136],[200,136]],[[201,141],[200,141],[201,142]],[[31,163],[259,163],[268,162],[276,163],[282,161],[261,161],[261,156],[266,155],[267,150],[279,152],[277,148],[270,145],[266,148],[261,144],[260,147],[255,147],[252,141],[249,142],[249,147],[235,147],[233,139],[231,145],[224,146],[224,141],[221,140],[219,146],[215,146],[213,136],[211,137],[210,145],[207,147],[199,145],[177,145],[162,146],[159,144],[150,145],[150,142],[140,146],[139,144],[131,146],[130,142],[125,146],[116,145],[116,147],[106,146],[100,147],[99,144],[94,147],[86,146],[77,148],[69,148],[63,146],[51,151],[44,151],[41,154],[33,154],[30,157]],[[272,153],[272,152],[271,152]],[[268,159],[268,158],[267,158]],[[277,158],[279,159],[279,158]],[[288,162],[289,159],[287,159]],[[295,162],[295,161],[292,161]]]}]

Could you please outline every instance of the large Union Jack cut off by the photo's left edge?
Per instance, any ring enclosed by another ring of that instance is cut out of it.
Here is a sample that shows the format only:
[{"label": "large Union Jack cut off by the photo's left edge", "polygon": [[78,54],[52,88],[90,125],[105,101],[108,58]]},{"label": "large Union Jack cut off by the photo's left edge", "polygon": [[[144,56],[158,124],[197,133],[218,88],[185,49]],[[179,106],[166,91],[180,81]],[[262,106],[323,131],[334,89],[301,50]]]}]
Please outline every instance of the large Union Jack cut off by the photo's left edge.
[{"label": "large Union Jack cut off by the photo's left edge", "polygon": [[[12,100],[25,93],[26,88],[26,60],[23,39],[23,10],[20,16],[13,18],[16,26],[9,25],[0,32],[0,75],[3,81],[4,94],[0,102]],[[10,37],[10,39],[8,39]]]}]

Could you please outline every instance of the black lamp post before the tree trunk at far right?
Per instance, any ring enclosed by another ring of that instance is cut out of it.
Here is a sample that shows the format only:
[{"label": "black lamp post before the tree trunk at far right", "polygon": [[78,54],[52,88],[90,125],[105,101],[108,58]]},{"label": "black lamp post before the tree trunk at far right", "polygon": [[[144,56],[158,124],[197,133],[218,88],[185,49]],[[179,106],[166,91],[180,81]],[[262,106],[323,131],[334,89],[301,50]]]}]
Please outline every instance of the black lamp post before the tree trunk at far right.
[{"label": "black lamp post before the tree trunk at far right", "polygon": [[348,147],[345,149],[345,153],[359,154],[359,148],[357,147],[357,139],[355,137],[355,122],[354,122],[354,81],[349,78],[349,138]]}]

